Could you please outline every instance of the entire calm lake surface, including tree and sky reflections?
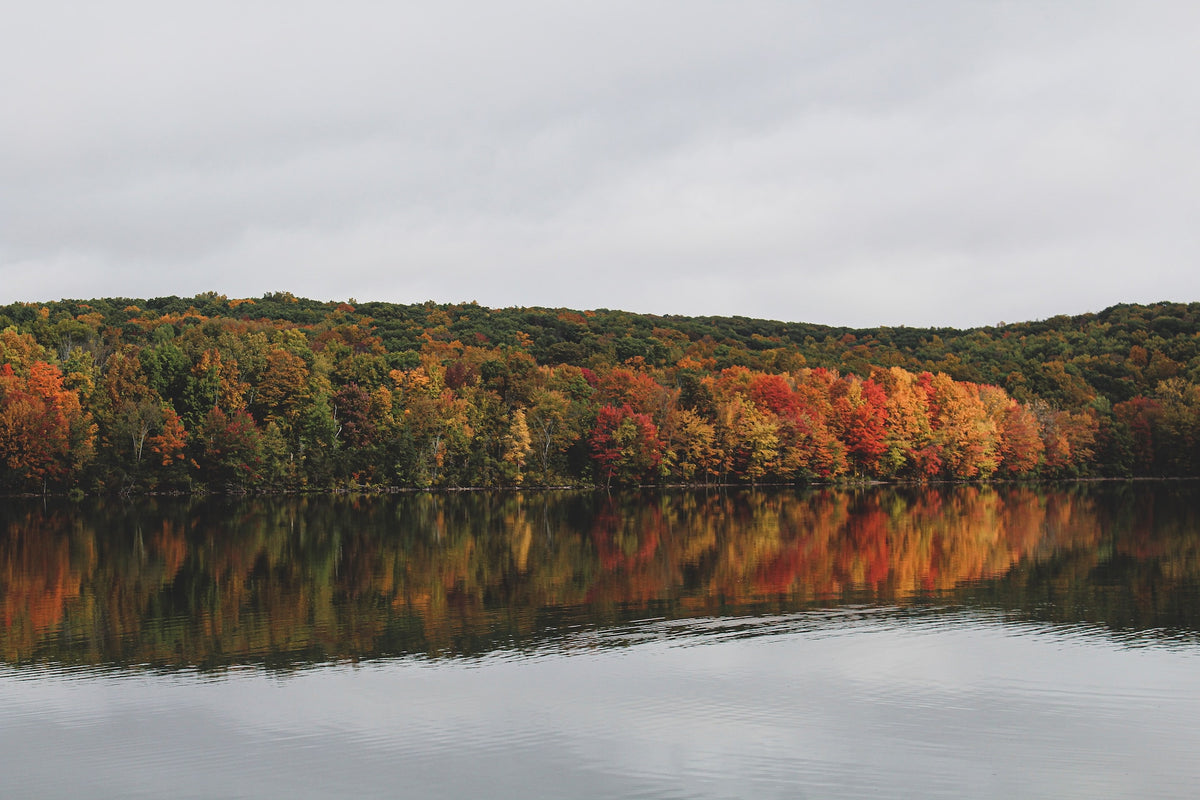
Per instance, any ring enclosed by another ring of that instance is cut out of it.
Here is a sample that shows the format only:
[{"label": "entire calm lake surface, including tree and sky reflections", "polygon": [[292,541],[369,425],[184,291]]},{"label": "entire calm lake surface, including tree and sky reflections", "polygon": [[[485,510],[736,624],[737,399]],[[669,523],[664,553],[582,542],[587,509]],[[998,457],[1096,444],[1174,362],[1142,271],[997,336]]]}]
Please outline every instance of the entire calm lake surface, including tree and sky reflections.
[{"label": "entire calm lake surface, including tree and sky reflections", "polygon": [[1200,487],[0,500],[5,798],[1187,798]]}]

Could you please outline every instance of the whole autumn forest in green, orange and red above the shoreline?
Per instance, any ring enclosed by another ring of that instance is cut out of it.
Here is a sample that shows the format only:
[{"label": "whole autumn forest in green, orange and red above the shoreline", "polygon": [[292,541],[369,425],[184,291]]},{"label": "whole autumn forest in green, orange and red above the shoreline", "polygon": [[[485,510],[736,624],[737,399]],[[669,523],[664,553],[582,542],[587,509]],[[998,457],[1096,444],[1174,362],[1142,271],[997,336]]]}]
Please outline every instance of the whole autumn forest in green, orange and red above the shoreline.
[{"label": "whole autumn forest in green, orange and red above the shoreline", "polygon": [[478,303],[0,306],[0,491],[1200,475],[1200,303],[973,330]]}]

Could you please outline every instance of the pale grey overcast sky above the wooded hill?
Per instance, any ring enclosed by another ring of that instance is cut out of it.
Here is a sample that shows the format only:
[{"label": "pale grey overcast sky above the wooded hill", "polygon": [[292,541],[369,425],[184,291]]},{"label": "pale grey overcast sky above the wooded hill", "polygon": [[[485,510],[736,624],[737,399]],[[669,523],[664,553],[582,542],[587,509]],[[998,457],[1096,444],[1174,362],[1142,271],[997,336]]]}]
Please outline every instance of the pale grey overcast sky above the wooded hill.
[{"label": "pale grey overcast sky above the wooded hill", "polygon": [[7,4],[0,302],[1200,300],[1200,4]]}]

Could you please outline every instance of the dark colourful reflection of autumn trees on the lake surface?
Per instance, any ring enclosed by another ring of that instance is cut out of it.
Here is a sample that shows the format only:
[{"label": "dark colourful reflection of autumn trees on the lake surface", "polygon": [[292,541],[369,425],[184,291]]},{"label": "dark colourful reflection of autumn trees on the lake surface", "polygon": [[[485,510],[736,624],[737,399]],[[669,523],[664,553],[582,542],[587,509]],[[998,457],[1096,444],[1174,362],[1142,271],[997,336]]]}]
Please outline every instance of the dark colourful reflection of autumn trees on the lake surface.
[{"label": "dark colourful reflection of autumn trees on the lake surface", "polygon": [[289,664],[905,603],[1200,631],[1189,485],[187,499],[0,511],[0,654]]}]

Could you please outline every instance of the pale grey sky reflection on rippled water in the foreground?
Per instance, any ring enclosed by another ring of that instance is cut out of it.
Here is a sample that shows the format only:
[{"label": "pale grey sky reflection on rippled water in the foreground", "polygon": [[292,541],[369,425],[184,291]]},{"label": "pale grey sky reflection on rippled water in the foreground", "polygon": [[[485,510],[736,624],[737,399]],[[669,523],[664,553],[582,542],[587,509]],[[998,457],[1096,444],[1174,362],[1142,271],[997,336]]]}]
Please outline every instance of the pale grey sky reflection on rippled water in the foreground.
[{"label": "pale grey sky reflection on rippled water in the foreground", "polygon": [[1194,646],[847,616],[284,674],[6,668],[0,774],[42,798],[1144,798],[1200,778]]}]

